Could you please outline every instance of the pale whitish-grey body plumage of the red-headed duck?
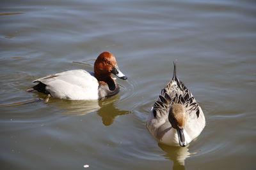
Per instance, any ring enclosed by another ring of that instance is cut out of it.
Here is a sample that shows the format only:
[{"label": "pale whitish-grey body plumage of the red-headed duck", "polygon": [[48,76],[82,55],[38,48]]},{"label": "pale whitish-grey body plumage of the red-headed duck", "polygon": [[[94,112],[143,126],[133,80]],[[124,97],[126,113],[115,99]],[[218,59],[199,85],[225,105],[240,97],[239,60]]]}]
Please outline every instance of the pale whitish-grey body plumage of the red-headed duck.
[{"label": "pale whitish-grey body plumage of the red-headed duck", "polygon": [[83,69],[65,71],[39,78],[35,82],[46,85],[52,97],[72,100],[97,100],[98,80]]}]

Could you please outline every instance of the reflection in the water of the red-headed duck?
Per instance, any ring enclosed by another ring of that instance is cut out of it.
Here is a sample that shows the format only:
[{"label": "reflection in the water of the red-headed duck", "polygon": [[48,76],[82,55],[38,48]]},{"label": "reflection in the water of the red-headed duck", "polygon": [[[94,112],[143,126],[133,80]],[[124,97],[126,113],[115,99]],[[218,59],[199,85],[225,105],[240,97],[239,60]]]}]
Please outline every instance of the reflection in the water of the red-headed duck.
[{"label": "reflection in the water of the red-headed duck", "polygon": [[86,115],[96,111],[102,117],[102,124],[108,126],[113,124],[116,117],[129,114],[129,111],[119,110],[115,107],[118,96],[109,97],[102,101],[69,101],[61,99],[51,99],[50,103],[54,103],[58,108],[63,109],[63,114],[71,114],[76,116]]}]

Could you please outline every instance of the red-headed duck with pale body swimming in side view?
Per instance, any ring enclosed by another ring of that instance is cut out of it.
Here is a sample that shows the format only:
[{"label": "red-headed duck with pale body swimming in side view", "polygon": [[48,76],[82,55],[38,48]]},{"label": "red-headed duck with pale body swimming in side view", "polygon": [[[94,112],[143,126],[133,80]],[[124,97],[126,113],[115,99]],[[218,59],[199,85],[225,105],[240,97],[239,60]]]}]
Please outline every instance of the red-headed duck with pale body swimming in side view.
[{"label": "red-headed duck with pale body swimming in side view", "polygon": [[41,92],[48,97],[68,100],[100,100],[114,96],[119,92],[115,74],[122,80],[127,80],[116,62],[115,56],[110,52],[102,52],[94,63],[94,73],[83,69],[74,69],[61,73],[51,74],[38,78],[35,86],[27,92]]}]

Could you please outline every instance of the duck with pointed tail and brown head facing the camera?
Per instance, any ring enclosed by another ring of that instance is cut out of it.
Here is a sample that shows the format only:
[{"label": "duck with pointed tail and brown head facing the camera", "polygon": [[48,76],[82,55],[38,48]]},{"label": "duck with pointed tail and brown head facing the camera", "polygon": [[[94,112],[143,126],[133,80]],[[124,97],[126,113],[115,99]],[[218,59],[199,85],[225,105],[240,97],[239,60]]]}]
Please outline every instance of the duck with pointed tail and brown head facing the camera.
[{"label": "duck with pointed tail and brown head facing the camera", "polygon": [[150,109],[147,128],[159,143],[184,147],[203,131],[205,117],[193,94],[177,77],[176,62],[173,65],[173,78]]}]

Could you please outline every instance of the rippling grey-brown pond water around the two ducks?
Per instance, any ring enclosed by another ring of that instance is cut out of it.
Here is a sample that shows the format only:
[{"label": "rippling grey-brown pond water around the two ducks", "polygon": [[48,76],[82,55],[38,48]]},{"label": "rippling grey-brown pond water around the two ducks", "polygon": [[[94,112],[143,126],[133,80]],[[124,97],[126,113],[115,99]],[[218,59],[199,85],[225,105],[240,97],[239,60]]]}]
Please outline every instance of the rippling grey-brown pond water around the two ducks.
[{"label": "rippling grey-brown pond water around the two ducks", "polygon": [[[31,81],[93,70],[112,52],[129,79],[98,102],[0,108],[1,169],[255,169],[255,1],[1,1],[0,104],[44,98]],[[177,74],[206,127],[187,148],[145,126]]]}]

